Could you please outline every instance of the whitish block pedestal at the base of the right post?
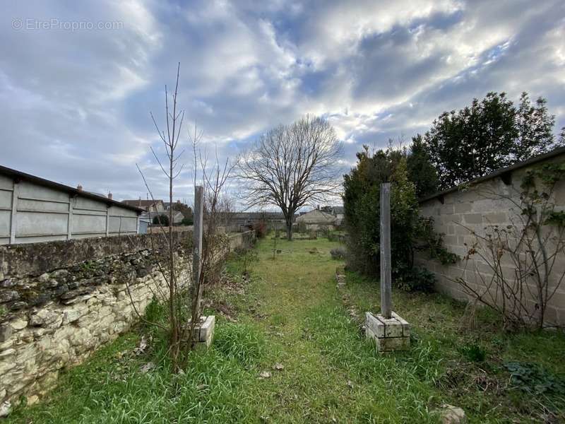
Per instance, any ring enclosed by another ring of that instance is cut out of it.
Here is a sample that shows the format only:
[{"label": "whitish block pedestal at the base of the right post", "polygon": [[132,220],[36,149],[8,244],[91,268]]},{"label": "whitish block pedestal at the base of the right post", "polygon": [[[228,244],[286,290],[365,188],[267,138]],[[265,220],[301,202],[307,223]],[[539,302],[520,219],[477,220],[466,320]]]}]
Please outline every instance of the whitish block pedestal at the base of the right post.
[{"label": "whitish block pedestal at the base of the right post", "polygon": [[378,352],[406,351],[410,348],[410,324],[395,312],[386,319],[365,312],[365,336],[373,338]]}]

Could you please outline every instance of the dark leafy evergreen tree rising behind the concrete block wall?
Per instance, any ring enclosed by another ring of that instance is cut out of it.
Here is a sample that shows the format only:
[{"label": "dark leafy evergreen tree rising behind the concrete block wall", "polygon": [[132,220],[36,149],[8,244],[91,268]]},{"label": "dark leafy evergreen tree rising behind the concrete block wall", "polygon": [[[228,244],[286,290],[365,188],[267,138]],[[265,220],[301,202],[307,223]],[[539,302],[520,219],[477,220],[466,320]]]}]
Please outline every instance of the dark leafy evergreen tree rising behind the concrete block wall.
[{"label": "dark leafy evergreen tree rising behind the concrete block wall", "polygon": [[494,172],[555,146],[555,117],[527,93],[516,109],[505,93],[488,93],[458,112],[444,112],[424,136],[424,146],[439,176],[439,189]]}]

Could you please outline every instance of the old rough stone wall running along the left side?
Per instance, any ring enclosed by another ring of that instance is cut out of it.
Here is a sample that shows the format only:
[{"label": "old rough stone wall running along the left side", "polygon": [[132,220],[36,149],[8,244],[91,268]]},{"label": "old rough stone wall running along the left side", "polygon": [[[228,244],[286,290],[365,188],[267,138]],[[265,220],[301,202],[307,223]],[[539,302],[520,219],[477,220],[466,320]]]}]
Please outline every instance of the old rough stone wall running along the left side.
[{"label": "old rough stone wall running along the left side", "polygon": [[[187,278],[192,232],[174,237]],[[252,237],[230,237],[226,252]],[[127,331],[166,288],[164,247],[157,235],[0,247],[0,403],[36,401],[59,370]]]}]

